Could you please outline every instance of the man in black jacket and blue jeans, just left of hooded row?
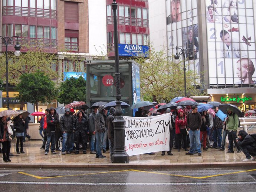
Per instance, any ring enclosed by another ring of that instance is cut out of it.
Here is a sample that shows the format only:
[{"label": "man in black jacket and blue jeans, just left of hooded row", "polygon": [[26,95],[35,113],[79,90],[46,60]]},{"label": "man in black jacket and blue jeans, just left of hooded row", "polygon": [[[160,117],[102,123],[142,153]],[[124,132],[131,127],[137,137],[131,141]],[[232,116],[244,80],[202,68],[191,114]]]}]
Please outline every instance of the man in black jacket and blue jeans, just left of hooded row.
[{"label": "man in black jacket and blue jeans, just left of hooded row", "polygon": [[46,115],[46,135],[47,135],[47,142],[45,147],[45,155],[48,155],[50,143],[51,143],[51,152],[52,154],[57,154],[55,152],[55,133],[56,133],[56,126],[59,124],[59,116],[57,115],[56,110],[53,107],[50,107],[49,114]]}]

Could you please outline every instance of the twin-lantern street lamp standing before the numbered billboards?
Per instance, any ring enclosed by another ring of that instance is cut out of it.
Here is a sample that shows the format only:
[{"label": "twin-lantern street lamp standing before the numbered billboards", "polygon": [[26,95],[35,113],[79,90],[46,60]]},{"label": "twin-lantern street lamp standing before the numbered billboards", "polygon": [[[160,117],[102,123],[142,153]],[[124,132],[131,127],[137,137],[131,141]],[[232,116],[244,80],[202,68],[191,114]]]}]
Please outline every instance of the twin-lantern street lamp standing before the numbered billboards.
[{"label": "twin-lantern street lamp standing before the numbered billboards", "polygon": [[[178,52],[178,50],[180,50],[180,52]],[[179,63],[179,59],[180,59],[180,55],[183,56],[183,70],[184,70],[184,92],[185,92],[185,97],[187,97],[187,84],[186,84],[186,66],[185,66],[185,59],[186,59],[186,54],[189,54],[190,48],[188,49],[181,49],[180,47],[176,46],[176,54],[174,55],[175,58],[175,63],[178,64]],[[193,54],[188,56],[188,63],[189,64],[193,64],[193,59],[194,56]]]}]

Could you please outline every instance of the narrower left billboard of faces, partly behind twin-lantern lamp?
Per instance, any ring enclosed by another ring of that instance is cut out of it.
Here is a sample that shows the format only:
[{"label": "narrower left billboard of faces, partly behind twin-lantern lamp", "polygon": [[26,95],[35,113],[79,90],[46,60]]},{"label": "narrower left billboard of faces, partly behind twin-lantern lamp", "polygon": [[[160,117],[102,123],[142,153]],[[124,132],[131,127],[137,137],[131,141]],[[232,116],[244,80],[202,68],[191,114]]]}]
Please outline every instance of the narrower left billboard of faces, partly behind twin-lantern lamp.
[{"label": "narrower left billboard of faces, partly behind twin-lantern lamp", "polygon": [[[176,46],[188,49],[193,54],[194,63],[186,66],[187,70],[200,73],[199,37],[198,37],[197,0],[166,0],[167,49],[168,56],[173,59]],[[186,57],[188,54],[186,54]],[[180,56],[180,60],[183,60]],[[199,83],[199,79],[195,81]]]}]

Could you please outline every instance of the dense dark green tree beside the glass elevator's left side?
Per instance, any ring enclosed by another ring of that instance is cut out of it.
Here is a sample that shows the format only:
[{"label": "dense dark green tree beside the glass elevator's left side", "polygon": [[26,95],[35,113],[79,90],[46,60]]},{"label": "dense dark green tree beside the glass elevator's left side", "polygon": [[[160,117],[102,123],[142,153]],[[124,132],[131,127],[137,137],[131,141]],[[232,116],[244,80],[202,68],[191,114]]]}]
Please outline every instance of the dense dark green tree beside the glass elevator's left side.
[{"label": "dense dark green tree beside the glass elevator's left side", "polygon": [[86,102],[86,80],[82,76],[60,83],[58,102],[68,104],[74,100]]}]

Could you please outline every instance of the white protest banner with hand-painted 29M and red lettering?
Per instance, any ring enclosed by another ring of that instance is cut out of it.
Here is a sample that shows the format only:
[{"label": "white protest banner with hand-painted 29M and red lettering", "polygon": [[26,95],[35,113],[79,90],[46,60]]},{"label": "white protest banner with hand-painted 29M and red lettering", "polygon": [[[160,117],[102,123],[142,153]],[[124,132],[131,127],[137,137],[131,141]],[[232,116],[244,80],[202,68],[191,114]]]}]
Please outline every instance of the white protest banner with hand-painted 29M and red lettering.
[{"label": "white protest banner with hand-painted 29M and red lettering", "polygon": [[171,115],[127,117],[125,119],[125,151],[129,156],[168,151]]}]

